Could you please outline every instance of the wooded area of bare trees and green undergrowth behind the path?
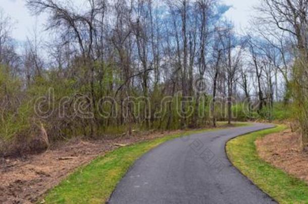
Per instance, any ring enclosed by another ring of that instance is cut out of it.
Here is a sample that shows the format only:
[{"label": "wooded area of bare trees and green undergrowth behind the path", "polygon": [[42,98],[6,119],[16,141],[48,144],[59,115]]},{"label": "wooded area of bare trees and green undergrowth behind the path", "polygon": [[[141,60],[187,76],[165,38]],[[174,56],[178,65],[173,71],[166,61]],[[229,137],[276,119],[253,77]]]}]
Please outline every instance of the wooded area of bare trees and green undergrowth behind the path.
[{"label": "wooded area of bare trees and green undergrowth behind the path", "polygon": [[308,143],[308,0],[262,0],[248,33],[234,29],[219,0],[27,7],[48,14],[50,36],[42,42],[34,29],[17,47],[1,14],[0,155],[36,150],[38,134],[54,142],[281,119],[277,106]]}]

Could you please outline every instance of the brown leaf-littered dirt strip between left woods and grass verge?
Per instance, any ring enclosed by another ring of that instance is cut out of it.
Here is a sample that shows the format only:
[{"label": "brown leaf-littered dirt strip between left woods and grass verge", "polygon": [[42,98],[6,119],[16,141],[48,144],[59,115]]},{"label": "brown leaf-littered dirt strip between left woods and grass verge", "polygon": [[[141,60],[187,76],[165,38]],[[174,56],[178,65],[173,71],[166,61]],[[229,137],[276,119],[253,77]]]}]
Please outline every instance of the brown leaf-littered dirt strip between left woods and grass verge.
[{"label": "brown leaf-littered dirt strip between left woods and grass verge", "polygon": [[0,158],[0,203],[32,203],[78,166],[122,145],[177,133],[156,132],[95,141],[77,140],[25,158]]}]

